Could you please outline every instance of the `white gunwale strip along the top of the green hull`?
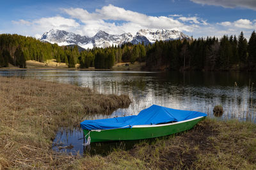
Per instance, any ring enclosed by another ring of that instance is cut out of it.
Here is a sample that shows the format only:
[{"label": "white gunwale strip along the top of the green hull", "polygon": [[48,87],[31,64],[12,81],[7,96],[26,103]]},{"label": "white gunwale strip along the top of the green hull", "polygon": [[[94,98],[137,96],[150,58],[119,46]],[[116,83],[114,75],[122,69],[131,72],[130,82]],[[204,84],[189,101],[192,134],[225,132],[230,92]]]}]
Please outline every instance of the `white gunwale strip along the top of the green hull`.
[{"label": "white gunwale strip along the top of the green hull", "polygon": [[[134,125],[134,126],[131,127],[131,129],[132,128],[145,128],[145,127],[162,127],[162,126],[168,126],[168,125],[182,124],[182,123],[197,120],[197,119],[200,119],[200,118],[203,118],[203,117],[196,117],[196,118],[191,118],[191,119],[188,119],[188,120],[182,120],[182,121],[179,121],[179,122],[173,122],[173,123],[168,123],[168,124]],[[127,125],[127,126],[129,126],[129,125]],[[124,127],[127,127],[127,126],[124,126]],[[126,129],[124,127],[120,127],[120,128],[116,128],[116,129]],[[93,130],[84,129],[84,130],[92,131],[92,132],[100,132],[100,131],[109,131],[109,130],[115,130],[115,129],[93,129]]]}]

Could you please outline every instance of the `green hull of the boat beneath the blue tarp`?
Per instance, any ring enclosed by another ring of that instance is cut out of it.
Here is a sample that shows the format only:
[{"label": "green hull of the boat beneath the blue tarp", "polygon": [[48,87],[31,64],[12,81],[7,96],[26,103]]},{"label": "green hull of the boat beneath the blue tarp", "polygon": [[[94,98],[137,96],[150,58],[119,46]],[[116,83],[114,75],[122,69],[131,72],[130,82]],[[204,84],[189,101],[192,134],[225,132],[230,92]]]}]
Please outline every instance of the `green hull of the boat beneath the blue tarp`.
[{"label": "green hull of the boat beneath the blue tarp", "polygon": [[[168,136],[182,131],[187,131],[194,127],[198,122],[205,117],[194,118],[188,121],[175,122],[173,124],[162,125],[137,125],[126,129],[109,129],[101,131],[90,131],[90,138],[92,142],[102,141],[130,141],[138,139],[157,138],[160,136]],[[84,129],[86,136],[89,131]],[[88,139],[88,135],[86,136]]]}]

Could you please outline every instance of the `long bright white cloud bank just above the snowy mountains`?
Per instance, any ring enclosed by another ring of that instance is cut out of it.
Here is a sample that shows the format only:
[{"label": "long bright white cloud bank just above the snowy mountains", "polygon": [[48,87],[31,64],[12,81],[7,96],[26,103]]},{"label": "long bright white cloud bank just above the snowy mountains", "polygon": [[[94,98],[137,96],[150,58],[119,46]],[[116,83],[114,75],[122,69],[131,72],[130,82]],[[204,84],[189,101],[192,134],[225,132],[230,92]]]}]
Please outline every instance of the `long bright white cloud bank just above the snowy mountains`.
[{"label": "long bright white cloud bank just above the snowy mountains", "polygon": [[[88,12],[82,8],[67,8],[61,9],[61,11],[64,11],[68,17],[56,16],[36,20],[18,20],[12,21],[12,24],[19,25],[20,34],[35,36],[36,38],[50,29],[72,31],[86,36],[94,36],[100,30],[109,34],[122,34],[124,32],[136,34],[139,29],[175,29],[189,36],[194,36],[194,38],[201,36],[221,37],[223,34],[238,35],[241,31],[244,32],[244,36],[248,37],[252,30],[256,29],[256,20],[251,21],[246,18],[234,22],[207,23],[207,20],[198,17],[198,15],[184,17],[174,14],[168,17],[154,17],[113,5],[103,6],[93,12]],[[15,31],[15,33],[18,32]]]}]

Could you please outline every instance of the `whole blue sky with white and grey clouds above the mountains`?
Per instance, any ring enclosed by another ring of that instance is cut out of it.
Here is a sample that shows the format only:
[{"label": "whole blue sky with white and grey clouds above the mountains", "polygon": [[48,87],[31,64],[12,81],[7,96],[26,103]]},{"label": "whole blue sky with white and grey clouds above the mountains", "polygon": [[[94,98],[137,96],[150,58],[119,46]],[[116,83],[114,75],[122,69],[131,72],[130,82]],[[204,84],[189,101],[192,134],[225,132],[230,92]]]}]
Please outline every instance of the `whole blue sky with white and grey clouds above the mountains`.
[{"label": "whole blue sky with white and grey clouds above the mountains", "polygon": [[0,34],[40,38],[60,29],[94,36],[140,29],[182,31],[193,38],[224,34],[250,38],[256,29],[256,0],[8,0],[0,5]]}]

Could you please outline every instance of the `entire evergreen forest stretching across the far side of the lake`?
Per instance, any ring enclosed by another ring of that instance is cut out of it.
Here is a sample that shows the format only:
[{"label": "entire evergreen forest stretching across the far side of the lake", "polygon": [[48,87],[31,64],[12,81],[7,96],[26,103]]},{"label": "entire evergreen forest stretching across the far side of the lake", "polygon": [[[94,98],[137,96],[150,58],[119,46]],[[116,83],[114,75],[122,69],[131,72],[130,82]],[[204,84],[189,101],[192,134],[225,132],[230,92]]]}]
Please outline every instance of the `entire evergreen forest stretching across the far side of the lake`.
[{"label": "entire evergreen forest stretching across the far side of the lake", "polygon": [[256,34],[250,39],[243,32],[236,36],[224,35],[192,40],[156,41],[154,44],[108,48],[92,48],[79,51],[75,46],[58,46],[17,34],[0,34],[0,67],[8,63],[22,68],[26,60],[45,62],[56,59],[68,67],[79,64],[81,68],[111,69],[118,62],[145,62],[147,70],[198,70],[198,71],[255,71]]}]

